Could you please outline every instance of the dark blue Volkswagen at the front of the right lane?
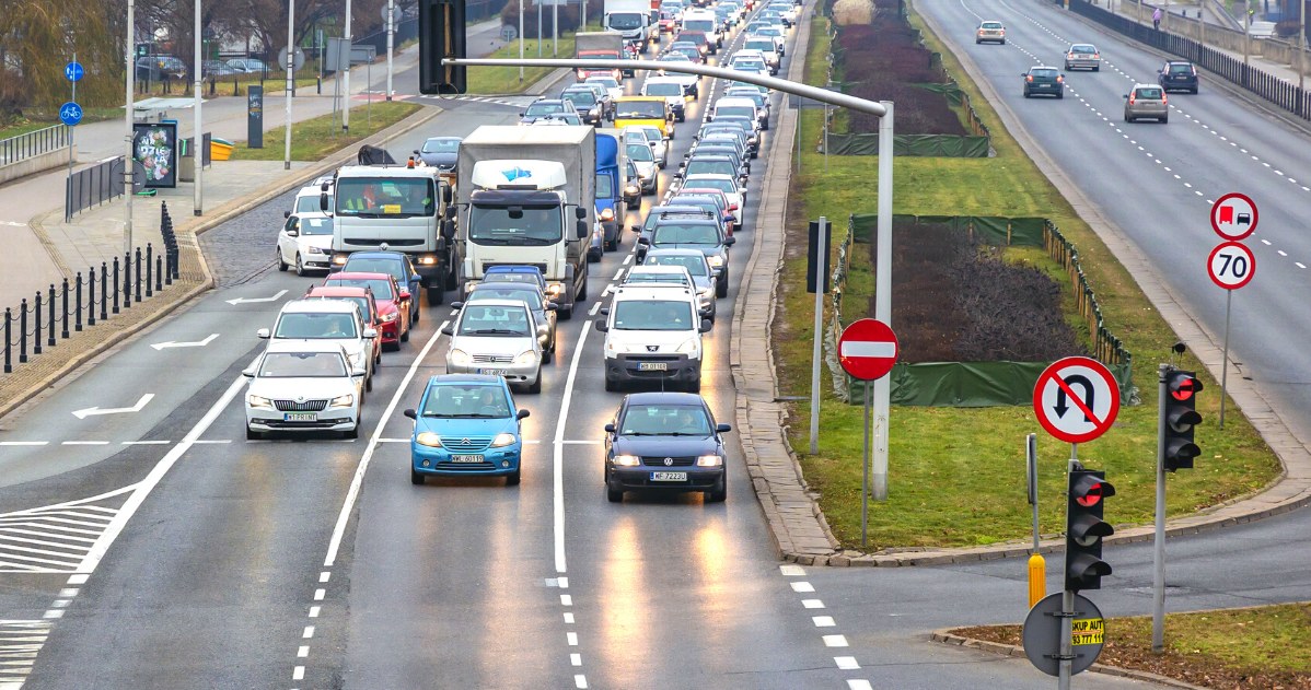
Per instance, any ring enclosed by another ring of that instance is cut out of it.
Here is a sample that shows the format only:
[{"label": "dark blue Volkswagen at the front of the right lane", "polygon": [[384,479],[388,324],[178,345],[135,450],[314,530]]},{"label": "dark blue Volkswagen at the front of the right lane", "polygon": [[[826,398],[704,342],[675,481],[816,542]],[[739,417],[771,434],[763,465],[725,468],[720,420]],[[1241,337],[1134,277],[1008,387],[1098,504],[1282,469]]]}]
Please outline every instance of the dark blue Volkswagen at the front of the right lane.
[{"label": "dark blue Volkswagen at the front of the right lane", "polygon": [[695,393],[624,395],[606,424],[606,498],[625,491],[700,491],[705,500],[728,498],[728,450],[705,399]]}]

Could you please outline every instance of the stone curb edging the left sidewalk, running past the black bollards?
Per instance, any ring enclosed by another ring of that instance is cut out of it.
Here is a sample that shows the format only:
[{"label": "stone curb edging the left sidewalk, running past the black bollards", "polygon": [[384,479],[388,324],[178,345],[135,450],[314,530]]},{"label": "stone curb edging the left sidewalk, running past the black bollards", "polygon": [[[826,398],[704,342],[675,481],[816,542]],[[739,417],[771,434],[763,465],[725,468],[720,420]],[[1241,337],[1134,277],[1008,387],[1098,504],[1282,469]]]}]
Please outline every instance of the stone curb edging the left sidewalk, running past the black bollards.
[{"label": "stone curb edging the left sidewalk, running past the black bollards", "polygon": [[[350,158],[353,158],[354,157],[354,152],[358,151],[359,147],[362,147],[364,144],[376,144],[378,141],[389,139],[392,136],[404,135],[404,134],[406,134],[406,132],[409,132],[409,131],[412,131],[412,130],[414,130],[414,128],[417,128],[417,127],[427,123],[429,120],[431,120],[433,118],[435,118],[439,113],[442,113],[440,107],[426,106],[423,110],[421,110],[421,111],[410,115],[409,118],[405,118],[404,120],[401,120],[401,122],[399,122],[399,123],[388,127],[387,130],[383,130],[383,131],[380,131],[378,134],[374,134],[372,136],[364,137],[364,139],[357,141],[355,144],[351,144],[347,148],[337,151],[332,156],[328,156],[326,158],[324,158],[323,161],[320,161],[319,165],[311,166],[311,168],[308,168],[307,170],[304,170],[302,173],[291,175],[288,178],[288,181],[286,181],[283,183],[279,183],[278,186],[273,187],[271,190],[262,190],[262,191],[260,191],[257,194],[252,194],[252,195],[248,195],[248,196],[244,196],[244,198],[233,199],[233,200],[228,202],[227,204],[220,206],[219,207],[220,211],[216,211],[214,216],[205,219],[195,228],[190,229],[189,234],[191,234],[193,237],[198,237],[203,232],[206,232],[206,230],[208,230],[211,228],[215,228],[215,227],[218,227],[218,225],[220,225],[223,223],[227,223],[228,220],[231,220],[231,219],[233,219],[233,217],[236,217],[236,216],[239,216],[241,213],[245,213],[246,211],[249,211],[253,207],[257,207],[260,204],[267,203],[269,200],[275,199],[275,198],[281,196],[282,194],[286,194],[286,192],[288,192],[288,191],[291,191],[291,190],[294,190],[294,189],[296,189],[299,186],[303,186],[307,181],[313,179],[313,178],[324,174],[326,170],[336,169],[337,166],[340,166],[345,161],[349,161]],[[49,216],[49,213],[46,213],[46,215]],[[41,233],[41,234],[43,234],[43,233]],[[49,241],[47,238],[42,237],[42,242],[47,242],[47,241]],[[90,348],[84,350],[83,352],[75,355],[72,359],[68,360],[67,364],[64,364],[63,367],[60,367],[59,369],[56,369],[51,374],[43,377],[37,384],[33,384],[25,391],[14,395],[13,399],[9,399],[9,401],[5,401],[4,403],[0,403],[0,419],[3,419],[5,415],[8,415],[9,412],[12,412],[16,409],[18,409],[20,406],[22,406],[28,401],[35,398],[43,390],[46,390],[46,389],[51,388],[52,385],[55,385],[55,382],[58,382],[62,378],[67,377],[68,374],[76,372],[81,365],[87,364],[88,361],[90,361],[93,359],[96,359],[102,352],[105,352],[105,351],[108,351],[108,350],[110,350],[113,347],[117,347],[117,346],[122,344],[125,340],[127,340],[130,338],[135,338],[136,335],[148,331],[155,325],[160,323],[165,317],[168,317],[173,312],[178,310],[184,305],[187,305],[191,300],[194,300],[195,297],[203,295],[210,288],[212,288],[214,287],[214,275],[210,272],[210,267],[208,267],[208,264],[205,261],[205,253],[201,251],[199,246],[195,247],[195,255],[197,255],[197,258],[199,261],[201,271],[205,275],[205,279],[198,285],[193,287],[191,289],[186,291],[185,293],[177,295],[177,297],[173,299],[172,301],[165,301],[164,305],[163,305],[163,308],[159,312],[156,312],[155,314],[147,317],[144,321],[140,321],[138,323],[127,325],[126,327],[123,327],[121,330],[105,331],[104,333],[104,338],[94,347],[90,347]],[[169,299],[169,297],[172,297],[172,295],[165,293],[164,297]],[[156,301],[153,304],[160,304],[160,302]]]}]

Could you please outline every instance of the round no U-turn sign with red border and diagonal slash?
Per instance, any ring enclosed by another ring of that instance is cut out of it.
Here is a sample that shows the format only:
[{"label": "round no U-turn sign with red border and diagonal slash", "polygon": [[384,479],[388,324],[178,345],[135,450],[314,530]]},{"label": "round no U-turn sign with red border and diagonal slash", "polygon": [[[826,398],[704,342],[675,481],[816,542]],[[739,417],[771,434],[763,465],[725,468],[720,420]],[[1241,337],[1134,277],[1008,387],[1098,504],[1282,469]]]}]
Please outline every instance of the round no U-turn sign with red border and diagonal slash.
[{"label": "round no U-turn sign with red border and diagonal slash", "polygon": [[1120,386],[1100,361],[1066,357],[1038,376],[1033,412],[1051,436],[1072,444],[1091,441],[1105,433],[1120,414]]}]

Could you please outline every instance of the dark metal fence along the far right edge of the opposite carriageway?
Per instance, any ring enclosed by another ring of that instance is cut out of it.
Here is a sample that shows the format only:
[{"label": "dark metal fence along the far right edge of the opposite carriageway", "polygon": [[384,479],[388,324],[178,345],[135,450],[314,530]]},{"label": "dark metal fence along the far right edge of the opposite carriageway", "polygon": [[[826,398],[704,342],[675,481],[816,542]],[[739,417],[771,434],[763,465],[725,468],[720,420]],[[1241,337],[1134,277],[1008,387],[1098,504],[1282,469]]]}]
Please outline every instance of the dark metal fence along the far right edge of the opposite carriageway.
[{"label": "dark metal fence along the far right edge of the opposite carriageway", "polygon": [[1197,67],[1214,72],[1226,80],[1265,98],[1266,101],[1298,115],[1311,119],[1311,90],[1285,81],[1269,72],[1252,67],[1249,63],[1213,50],[1205,43],[1169,31],[1152,29],[1129,17],[1114,14],[1092,5],[1088,0],[1070,0],[1070,10],[1120,31],[1134,41],[1156,50],[1190,60]]}]

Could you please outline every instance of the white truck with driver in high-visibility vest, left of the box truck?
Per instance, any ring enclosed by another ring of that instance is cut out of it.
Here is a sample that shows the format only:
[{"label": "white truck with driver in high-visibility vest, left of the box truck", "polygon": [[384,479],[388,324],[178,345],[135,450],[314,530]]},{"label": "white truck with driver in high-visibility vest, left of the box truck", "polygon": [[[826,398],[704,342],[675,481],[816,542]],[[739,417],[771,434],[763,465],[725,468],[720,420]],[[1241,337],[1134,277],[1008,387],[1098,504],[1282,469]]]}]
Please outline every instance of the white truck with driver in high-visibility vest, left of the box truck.
[{"label": "white truck with driver in high-visibility vest, left of the box truck", "polygon": [[323,187],[324,209],[334,216],[334,267],[353,251],[404,251],[422,276],[429,304],[442,304],[452,287],[454,225],[442,223],[451,186],[437,168],[346,165],[337,169],[332,194],[328,183]]}]

